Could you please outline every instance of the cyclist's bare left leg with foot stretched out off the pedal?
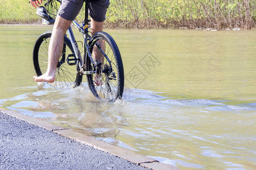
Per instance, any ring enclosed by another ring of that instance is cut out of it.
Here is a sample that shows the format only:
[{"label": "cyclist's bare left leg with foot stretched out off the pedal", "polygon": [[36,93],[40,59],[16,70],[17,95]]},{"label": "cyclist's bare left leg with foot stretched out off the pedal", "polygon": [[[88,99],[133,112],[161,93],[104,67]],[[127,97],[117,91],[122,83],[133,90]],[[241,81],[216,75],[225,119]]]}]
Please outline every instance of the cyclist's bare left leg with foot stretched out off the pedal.
[{"label": "cyclist's bare left leg with foot stretched out off the pedal", "polygon": [[71,23],[72,21],[57,16],[49,42],[47,71],[41,76],[34,76],[36,82],[53,83],[55,81],[55,71],[63,50],[64,35]]}]

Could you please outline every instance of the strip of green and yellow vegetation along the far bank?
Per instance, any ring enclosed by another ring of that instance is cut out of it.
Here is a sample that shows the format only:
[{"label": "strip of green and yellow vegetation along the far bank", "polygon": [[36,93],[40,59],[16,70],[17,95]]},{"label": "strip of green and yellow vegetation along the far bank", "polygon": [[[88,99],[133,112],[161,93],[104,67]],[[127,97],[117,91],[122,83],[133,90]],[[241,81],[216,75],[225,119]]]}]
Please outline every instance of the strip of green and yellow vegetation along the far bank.
[{"label": "strip of green and yellow vegetation along the far bank", "polygon": [[[108,28],[244,28],[256,26],[255,0],[110,0]],[[83,13],[83,12],[81,12]],[[84,14],[77,16],[79,21]],[[0,0],[0,23],[40,21],[28,0]]]}]

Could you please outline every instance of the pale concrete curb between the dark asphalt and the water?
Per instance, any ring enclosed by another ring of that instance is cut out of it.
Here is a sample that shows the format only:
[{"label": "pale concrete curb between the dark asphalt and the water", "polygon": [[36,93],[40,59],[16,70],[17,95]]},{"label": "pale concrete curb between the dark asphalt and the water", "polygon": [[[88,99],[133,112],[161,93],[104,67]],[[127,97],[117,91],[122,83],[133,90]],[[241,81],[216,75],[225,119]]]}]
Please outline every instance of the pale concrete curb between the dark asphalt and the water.
[{"label": "pale concrete curb between the dark asphalt and the water", "polygon": [[41,128],[50,130],[56,134],[62,135],[63,137],[67,137],[69,139],[73,139],[77,142],[84,143],[86,145],[92,146],[94,148],[97,148],[98,150],[102,150],[105,152],[109,152],[110,154],[113,154],[115,156],[118,156],[120,158],[129,160],[130,162],[136,163],[138,165],[142,165],[147,168],[151,169],[179,169],[176,167],[173,167],[168,164],[159,163],[158,160],[154,160],[151,158],[148,158],[146,156],[137,154],[135,152],[132,152],[130,150],[126,150],[125,148],[113,146],[108,143],[105,143],[103,141],[98,141],[96,138],[89,137],[88,135],[84,135],[82,133],[79,133],[72,129],[65,129],[61,128],[60,126],[50,124],[49,122],[40,120],[39,118],[35,117],[29,117],[25,114],[18,113],[15,111],[6,110],[5,108],[0,108],[0,111],[2,113],[9,114],[10,116],[19,118],[20,120],[29,122],[30,124],[39,126]]}]

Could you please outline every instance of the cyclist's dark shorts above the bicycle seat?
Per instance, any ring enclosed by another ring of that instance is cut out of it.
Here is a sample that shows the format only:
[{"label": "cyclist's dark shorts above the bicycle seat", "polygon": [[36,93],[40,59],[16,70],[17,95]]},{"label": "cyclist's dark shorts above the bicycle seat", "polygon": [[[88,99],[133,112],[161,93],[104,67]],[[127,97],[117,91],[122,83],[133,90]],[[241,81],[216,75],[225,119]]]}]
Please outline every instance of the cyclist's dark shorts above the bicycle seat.
[{"label": "cyclist's dark shorts above the bicycle seat", "polygon": [[[59,15],[67,20],[74,20],[79,14],[83,0],[62,0]],[[109,0],[92,0],[89,3],[89,15],[97,22],[104,22]]]}]

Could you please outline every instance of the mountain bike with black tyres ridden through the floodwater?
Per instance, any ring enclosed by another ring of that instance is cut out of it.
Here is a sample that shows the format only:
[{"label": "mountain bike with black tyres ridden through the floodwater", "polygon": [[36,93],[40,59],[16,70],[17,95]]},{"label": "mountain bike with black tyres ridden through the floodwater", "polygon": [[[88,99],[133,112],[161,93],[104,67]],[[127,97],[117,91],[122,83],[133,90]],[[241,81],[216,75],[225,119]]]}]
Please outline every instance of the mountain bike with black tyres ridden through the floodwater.
[{"label": "mountain bike with black tyres ridden through the floodwater", "polygon": [[[57,14],[56,1],[47,0],[44,8],[47,14],[54,19]],[[85,2],[85,19],[82,25],[73,20],[72,25],[82,34],[84,42],[76,41],[71,26],[68,35],[64,36],[63,52],[57,63],[55,82],[57,88],[75,88],[80,86],[82,76],[86,75],[90,91],[98,99],[115,101],[122,97],[124,87],[124,72],[121,54],[114,39],[106,32],[97,32],[90,36],[88,28],[89,0]],[[38,37],[33,49],[33,63],[36,75],[40,76],[47,69],[48,44],[52,32],[44,32]],[[83,46],[83,55],[77,43]],[[100,54],[100,60],[93,57],[93,53]],[[96,80],[98,83],[96,83]]]}]

